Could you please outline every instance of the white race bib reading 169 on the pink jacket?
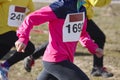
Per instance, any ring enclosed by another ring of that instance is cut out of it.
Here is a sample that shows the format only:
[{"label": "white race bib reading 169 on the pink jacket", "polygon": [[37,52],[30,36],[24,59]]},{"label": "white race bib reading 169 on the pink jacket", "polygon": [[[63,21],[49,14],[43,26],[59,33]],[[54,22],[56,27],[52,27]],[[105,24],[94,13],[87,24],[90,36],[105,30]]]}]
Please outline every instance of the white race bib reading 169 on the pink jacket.
[{"label": "white race bib reading 169 on the pink jacket", "polygon": [[63,25],[63,42],[73,42],[80,39],[85,13],[72,13],[66,16]]}]

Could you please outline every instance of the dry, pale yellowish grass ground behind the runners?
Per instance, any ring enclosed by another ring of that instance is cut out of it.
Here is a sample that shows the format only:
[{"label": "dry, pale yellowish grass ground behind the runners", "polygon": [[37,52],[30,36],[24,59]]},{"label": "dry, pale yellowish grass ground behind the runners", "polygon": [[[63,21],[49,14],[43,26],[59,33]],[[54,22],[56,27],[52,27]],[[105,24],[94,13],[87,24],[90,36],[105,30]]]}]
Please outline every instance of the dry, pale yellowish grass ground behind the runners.
[{"label": "dry, pale yellowish grass ground behind the runners", "polygon": [[[43,6],[43,5],[40,5]],[[38,6],[37,6],[38,9]],[[91,80],[120,80],[120,6],[112,5],[110,7],[95,8],[94,20],[96,24],[106,34],[105,45],[105,58],[104,65],[108,67],[108,70],[114,73],[112,78],[92,77],[90,71],[92,69],[93,57],[89,52],[81,47],[79,44],[77,47],[77,53],[75,56],[75,64],[79,66]],[[47,30],[46,24],[42,25],[44,28],[36,27],[35,29]],[[47,41],[48,34],[40,34],[32,32],[31,40],[37,46],[44,41]],[[38,35],[39,34],[39,35]],[[42,69],[41,59],[36,60],[36,64],[31,73],[24,70],[23,61],[13,65],[9,71],[9,80],[35,80],[38,73]]]}]

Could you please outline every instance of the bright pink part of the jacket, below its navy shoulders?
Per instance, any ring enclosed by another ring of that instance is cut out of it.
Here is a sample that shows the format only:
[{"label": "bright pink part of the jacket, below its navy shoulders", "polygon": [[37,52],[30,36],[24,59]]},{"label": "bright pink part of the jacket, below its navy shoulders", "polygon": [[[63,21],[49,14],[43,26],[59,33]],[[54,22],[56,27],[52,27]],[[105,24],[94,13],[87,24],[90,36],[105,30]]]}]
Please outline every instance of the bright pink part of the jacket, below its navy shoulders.
[{"label": "bright pink part of the jacket, below its navy shoulders", "polygon": [[[49,22],[49,44],[43,55],[43,60],[48,62],[69,60],[73,62],[78,41],[63,42],[63,24],[65,19],[59,19],[49,6],[35,11],[25,18],[17,30],[18,40],[27,45],[29,33],[33,26],[45,22]],[[86,26],[87,20],[85,19],[80,41],[94,54],[98,46],[90,39],[86,32]]]}]

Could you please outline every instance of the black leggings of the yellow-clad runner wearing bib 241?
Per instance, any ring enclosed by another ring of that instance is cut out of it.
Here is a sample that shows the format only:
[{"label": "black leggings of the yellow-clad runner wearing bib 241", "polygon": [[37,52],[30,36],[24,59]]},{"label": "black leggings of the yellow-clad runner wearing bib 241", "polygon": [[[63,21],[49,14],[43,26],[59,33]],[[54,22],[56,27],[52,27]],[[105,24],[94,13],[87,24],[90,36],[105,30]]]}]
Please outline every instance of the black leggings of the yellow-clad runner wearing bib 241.
[{"label": "black leggings of the yellow-clad runner wearing bib 241", "polygon": [[[15,31],[10,31],[5,34],[0,35],[0,59],[2,59],[12,47],[14,47],[17,41],[17,36]],[[9,65],[13,65],[25,57],[31,55],[35,50],[34,45],[29,41],[25,49],[25,53],[20,53],[15,50],[14,54],[7,59]]]}]

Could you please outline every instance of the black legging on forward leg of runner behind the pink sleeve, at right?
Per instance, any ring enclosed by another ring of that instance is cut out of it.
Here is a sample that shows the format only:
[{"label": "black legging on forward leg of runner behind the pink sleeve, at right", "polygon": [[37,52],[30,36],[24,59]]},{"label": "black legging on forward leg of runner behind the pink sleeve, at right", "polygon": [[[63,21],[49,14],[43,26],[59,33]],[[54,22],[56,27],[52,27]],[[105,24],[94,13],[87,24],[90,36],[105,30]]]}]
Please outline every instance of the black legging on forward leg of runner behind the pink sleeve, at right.
[{"label": "black legging on forward leg of runner behind the pink sleeve, at right", "polygon": [[[101,29],[94,23],[93,20],[88,20],[87,23],[87,32],[90,37],[95,41],[95,43],[99,46],[99,48],[104,48],[105,44],[105,34],[101,31]],[[96,55],[94,57],[94,67],[103,67],[103,57],[98,58]]]}]

